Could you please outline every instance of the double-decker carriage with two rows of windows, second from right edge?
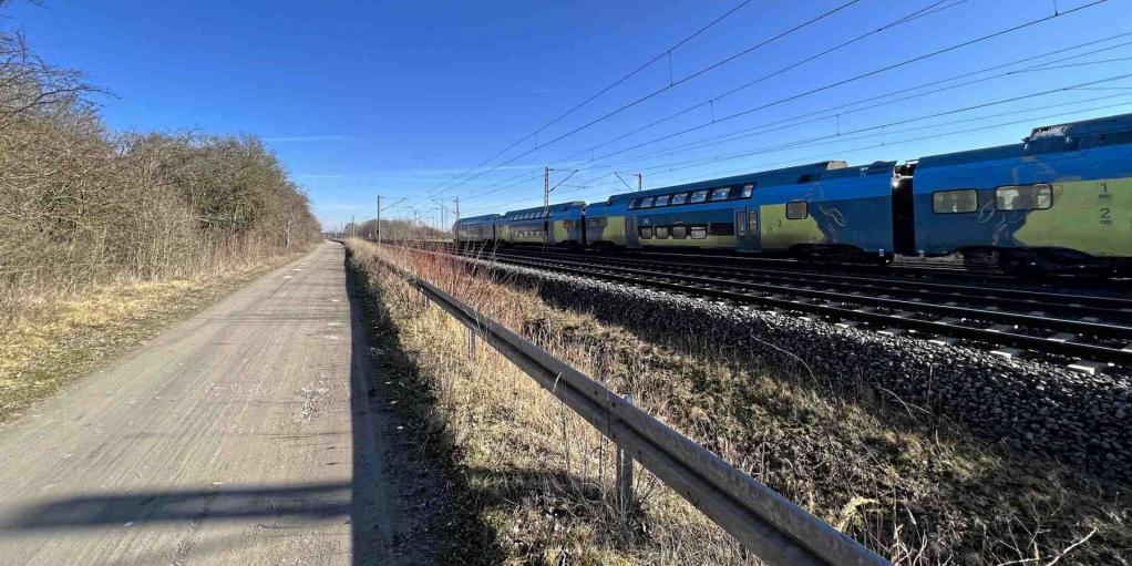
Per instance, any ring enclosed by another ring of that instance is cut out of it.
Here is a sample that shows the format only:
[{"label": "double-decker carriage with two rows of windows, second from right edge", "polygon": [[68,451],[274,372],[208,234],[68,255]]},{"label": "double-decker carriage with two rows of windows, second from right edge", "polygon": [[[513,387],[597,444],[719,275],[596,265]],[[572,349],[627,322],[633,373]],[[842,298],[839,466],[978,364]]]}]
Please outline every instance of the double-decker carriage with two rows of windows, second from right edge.
[{"label": "double-decker carriage with two rows of windows, second from right edge", "polygon": [[592,247],[859,256],[893,252],[895,163],[827,161],[615,195],[586,209]]}]

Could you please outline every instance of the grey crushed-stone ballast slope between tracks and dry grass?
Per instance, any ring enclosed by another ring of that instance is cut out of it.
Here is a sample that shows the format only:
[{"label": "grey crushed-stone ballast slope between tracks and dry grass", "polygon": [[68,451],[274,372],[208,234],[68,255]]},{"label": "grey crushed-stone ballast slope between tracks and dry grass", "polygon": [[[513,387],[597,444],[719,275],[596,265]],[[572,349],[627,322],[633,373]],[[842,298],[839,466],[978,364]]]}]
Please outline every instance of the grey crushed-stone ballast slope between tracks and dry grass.
[{"label": "grey crushed-stone ballast slope between tracks and dry grass", "polygon": [[[1052,455],[1092,473],[1132,479],[1132,379],[1087,375],[1040,360],[1005,359],[962,344],[844,328],[798,314],[758,310],[549,271],[470,259],[543,300],[641,334],[694,336],[720,352],[790,368],[833,388],[866,388],[900,410],[931,411],[990,440]],[[805,367],[804,367],[805,366]],[[808,368],[808,369],[807,369]]]}]

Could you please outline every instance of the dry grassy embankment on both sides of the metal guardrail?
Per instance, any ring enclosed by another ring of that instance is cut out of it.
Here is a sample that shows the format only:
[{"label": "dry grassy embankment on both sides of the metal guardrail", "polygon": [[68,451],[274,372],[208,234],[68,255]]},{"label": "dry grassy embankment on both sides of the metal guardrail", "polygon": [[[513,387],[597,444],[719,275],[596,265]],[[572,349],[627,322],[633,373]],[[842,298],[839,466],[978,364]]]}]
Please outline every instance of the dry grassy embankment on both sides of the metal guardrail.
[{"label": "dry grassy embankment on both sides of the metal guardrail", "polygon": [[[648,480],[638,486],[642,514],[623,521],[608,443],[497,354],[481,346],[470,360],[456,323],[380,275],[372,246],[351,248],[377,274],[384,359],[405,376],[393,386],[438,454],[454,448],[456,500],[474,517],[461,533],[479,561],[552,563],[564,552],[592,564],[751,560]],[[1132,561],[1126,486],[988,445],[931,411],[829,394],[808,376],[753,367],[711,344],[645,342],[447,260],[389,259],[633,393],[650,413],[894,563]]]}]

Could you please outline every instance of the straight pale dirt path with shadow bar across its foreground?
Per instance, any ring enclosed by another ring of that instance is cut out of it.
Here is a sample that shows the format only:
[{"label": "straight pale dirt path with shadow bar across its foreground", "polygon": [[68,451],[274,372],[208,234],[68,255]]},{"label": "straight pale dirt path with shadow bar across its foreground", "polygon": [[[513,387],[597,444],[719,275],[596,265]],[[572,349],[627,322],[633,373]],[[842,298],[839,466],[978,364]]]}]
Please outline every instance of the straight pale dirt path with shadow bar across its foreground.
[{"label": "straight pale dirt path with shadow bar across its foreground", "polygon": [[0,428],[0,563],[426,561],[343,257],[323,243]]}]

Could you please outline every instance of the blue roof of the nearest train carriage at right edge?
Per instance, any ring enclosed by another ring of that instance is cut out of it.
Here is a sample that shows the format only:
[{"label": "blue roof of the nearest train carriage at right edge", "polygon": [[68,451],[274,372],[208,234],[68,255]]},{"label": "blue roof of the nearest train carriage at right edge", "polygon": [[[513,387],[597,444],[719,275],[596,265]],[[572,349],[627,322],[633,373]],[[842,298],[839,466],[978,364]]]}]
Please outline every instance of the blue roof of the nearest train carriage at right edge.
[{"label": "blue roof of the nearest train carriage at right edge", "polygon": [[1103,145],[1132,144],[1132,113],[1034,128],[1020,144],[929,155],[918,169],[961,165],[980,161],[1020,158]]}]

